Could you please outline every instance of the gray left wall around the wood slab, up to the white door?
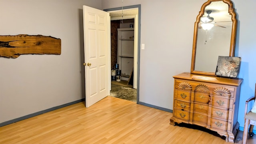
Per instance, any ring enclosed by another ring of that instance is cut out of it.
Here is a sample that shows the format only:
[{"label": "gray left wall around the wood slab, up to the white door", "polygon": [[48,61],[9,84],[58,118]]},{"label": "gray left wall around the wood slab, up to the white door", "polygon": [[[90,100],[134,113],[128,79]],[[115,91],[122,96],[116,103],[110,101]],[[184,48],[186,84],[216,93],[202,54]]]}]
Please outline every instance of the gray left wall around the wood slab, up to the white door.
[{"label": "gray left wall around the wood slab, up to the white door", "polygon": [[0,123],[84,98],[82,6],[101,0],[0,0],[0,35],[61,39],[61,55],[0,58]]}]

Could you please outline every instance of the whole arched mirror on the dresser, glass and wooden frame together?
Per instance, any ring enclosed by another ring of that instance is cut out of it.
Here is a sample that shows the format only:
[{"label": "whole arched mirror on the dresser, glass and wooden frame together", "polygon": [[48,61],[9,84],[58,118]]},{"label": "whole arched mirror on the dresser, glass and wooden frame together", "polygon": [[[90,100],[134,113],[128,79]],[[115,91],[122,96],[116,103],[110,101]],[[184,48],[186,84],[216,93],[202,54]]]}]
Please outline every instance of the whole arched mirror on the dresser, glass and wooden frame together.
[{"label": "whole arched mirror on the dresser, glass and wooden frame together", "polygon": [[230,0],[208,0],[202,5],[194,25],[192,74],[214,76],[218,56],[234,56],[236,27]]}]

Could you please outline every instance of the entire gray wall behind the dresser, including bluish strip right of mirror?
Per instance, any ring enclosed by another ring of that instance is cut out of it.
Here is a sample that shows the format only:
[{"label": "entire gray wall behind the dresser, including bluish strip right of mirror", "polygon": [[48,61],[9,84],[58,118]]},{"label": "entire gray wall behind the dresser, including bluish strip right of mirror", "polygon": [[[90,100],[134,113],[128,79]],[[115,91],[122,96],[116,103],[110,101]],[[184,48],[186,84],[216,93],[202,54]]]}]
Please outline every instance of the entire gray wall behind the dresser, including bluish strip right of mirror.
[{"label": "entire gray wall behind the dresser, including bluish strip right of mirror", "polygon": [[[207,0],[102,0],[102,9],[141,4],[140,101],[172,109],[174,79],[190,72],[194,22]],[[255,0],[232,0],[238,29],[235,56],[242,58],[238,122],[244,126],[245,101],[256,82]]]}]

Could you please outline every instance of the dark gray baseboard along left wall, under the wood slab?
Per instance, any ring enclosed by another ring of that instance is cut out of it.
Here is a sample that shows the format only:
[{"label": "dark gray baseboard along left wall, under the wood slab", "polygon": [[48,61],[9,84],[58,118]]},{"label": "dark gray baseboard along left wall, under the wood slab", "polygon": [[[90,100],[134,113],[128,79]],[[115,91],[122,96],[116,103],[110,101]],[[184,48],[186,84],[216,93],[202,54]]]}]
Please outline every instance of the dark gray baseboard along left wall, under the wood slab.
[{"label": "dark gray baseboard along left wall, under the wood slab", "polygon": [[0,127],[1,127],[1,126],[5,126],[5,125],[8,125],[8,124],[12,124],[12,123],[14,123],[14,122],[18,122],[18,121],[20,121],[20,120],[25,120],[25,119],[27,119],[27,118],[31,118],[31,117],[33,117],[33,116],[38,116],[38,115],[44,114],[44,113],[46,113],[46,112],[50,112],[50,111],[53,111],[53,110],[57,110],[57,109],[59,109],[59,108],[65,107],[65,106],[70,106],[70,105],[72,105],[72,104],[76,104],[76,103],[82,102],[82,101],[84,101],[84,100],[85,100],[85,99],[83,98],[83,99],[81,99],[81,100],[76,100],[76,101],[74,101],[74,102],[69,102],[69,103],[67,103],[67,104],[62,104],[62,105],[60,105],[60,106],[55,106],[55,107],[52,107],[52,108],[48,108],[48,109],[46,109],[46,110],[42,110],[42,111],[39,111],[39,112],[35,112],[35,113],[33,113],[33,114],[28,114],[28,115],[22,116],[22,117],[20,117],[20,118],[15,118],[15,119],[13,119],[13,120],[8,120],[8,121],[6,121],[6,122],[0,123]]}]

